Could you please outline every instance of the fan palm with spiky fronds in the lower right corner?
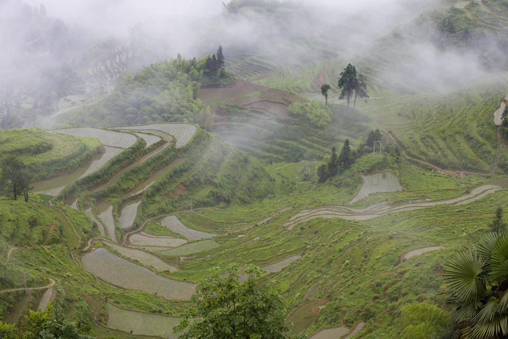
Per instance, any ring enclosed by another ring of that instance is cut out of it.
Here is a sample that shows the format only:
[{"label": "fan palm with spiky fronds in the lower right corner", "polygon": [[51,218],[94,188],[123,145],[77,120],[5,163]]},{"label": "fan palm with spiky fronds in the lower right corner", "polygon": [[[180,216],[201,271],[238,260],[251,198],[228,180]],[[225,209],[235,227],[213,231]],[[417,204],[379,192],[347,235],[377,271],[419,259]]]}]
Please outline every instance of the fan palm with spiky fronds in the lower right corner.
[{"label": "fan palm with spiky fronds in the lower right corner", "polygon": [[444,264],[448,284],[444,309],[470,339],[508,335],[508,233],[488,233],[478,247],[464,249]]}]

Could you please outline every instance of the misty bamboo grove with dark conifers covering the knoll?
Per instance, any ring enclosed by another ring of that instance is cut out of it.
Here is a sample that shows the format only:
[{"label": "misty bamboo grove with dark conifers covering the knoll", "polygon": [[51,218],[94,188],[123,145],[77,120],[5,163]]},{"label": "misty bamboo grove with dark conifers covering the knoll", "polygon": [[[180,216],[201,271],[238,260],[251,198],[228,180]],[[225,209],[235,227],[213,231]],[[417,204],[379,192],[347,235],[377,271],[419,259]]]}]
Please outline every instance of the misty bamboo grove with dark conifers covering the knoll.
[{"label": "misty bamboo grove with dark conifers covering the knoll", "polygon": [[157,61],[134,76],[127,74],[105,102],[125,125],[146,122],[191,122],[207,129],[213,124],[209,107],[198,98],[202,85],[230,85],[235,78],[224,70],[224,56]]}]

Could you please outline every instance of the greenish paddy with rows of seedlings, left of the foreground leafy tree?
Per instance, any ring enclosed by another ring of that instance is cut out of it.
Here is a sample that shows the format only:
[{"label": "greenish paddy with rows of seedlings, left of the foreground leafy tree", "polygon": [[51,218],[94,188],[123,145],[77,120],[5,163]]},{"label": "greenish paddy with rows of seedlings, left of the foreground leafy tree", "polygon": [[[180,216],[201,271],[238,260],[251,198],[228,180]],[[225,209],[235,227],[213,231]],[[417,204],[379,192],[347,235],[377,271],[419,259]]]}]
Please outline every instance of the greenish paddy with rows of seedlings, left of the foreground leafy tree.
[{"label": "greenish paddy with rows of seedlings, left of the foreground leafy tree", "polygon": [[180,318],[162,314],[126,310],[106,304],[108,311],[108,327],[117,328],[133,334],[161,335],[164,338],[176,339],[181,333],[173,334],[173,327],[178,325]]}]

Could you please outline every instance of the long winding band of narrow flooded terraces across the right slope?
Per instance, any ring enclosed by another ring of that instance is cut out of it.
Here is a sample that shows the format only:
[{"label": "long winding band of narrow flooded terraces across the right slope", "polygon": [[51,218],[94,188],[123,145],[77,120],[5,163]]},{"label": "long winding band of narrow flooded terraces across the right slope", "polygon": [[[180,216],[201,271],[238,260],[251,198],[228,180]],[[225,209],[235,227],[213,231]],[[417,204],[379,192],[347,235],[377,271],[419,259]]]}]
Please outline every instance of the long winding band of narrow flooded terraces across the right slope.
[{"label": "long winding band of narrow flooded terraces across the right slope", "polygon": [[288,229],[293,229],[293,227],[296,224],[303,221],[311,220],[313,218],[342,218],[346,220],[361,221],[377,218],[380,215],[384,215],[388,212],[408,211],[438,205],[458,206],[482,199],[487,195],[492,194],[499,190],[501,190],[499,186],[483,185],[475,189],[472,189],[469,193],[464,194],[460,197],[444,200],[410,202],[394,205],[389,205],[386,202],[381,202],[370,205],[365,208],[354,208],[339,205],[319,206],[315,208],[300,210],[298,213],[296,213],[295,215],[293,215],[293,217],[290,218],[289,222],[285,223],[284,225],[288,226]]}]

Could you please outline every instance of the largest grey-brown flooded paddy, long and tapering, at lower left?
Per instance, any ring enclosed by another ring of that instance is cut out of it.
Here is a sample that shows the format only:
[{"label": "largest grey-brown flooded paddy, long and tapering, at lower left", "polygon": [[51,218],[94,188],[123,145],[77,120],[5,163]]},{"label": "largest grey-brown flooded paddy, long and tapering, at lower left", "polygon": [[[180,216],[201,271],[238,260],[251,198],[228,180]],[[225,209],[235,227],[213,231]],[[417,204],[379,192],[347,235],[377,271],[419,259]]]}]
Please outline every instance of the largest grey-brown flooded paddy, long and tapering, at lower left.
[{"label": "largest grey-brown flooded paddy, long and tapering, at lower left", "polygon": [[104,248],[81,257],[83,267],[102,280],[115,285],[157,293],[167,299],[189,300],[195,285],[157,275],[152,270],[118,257]]}]

